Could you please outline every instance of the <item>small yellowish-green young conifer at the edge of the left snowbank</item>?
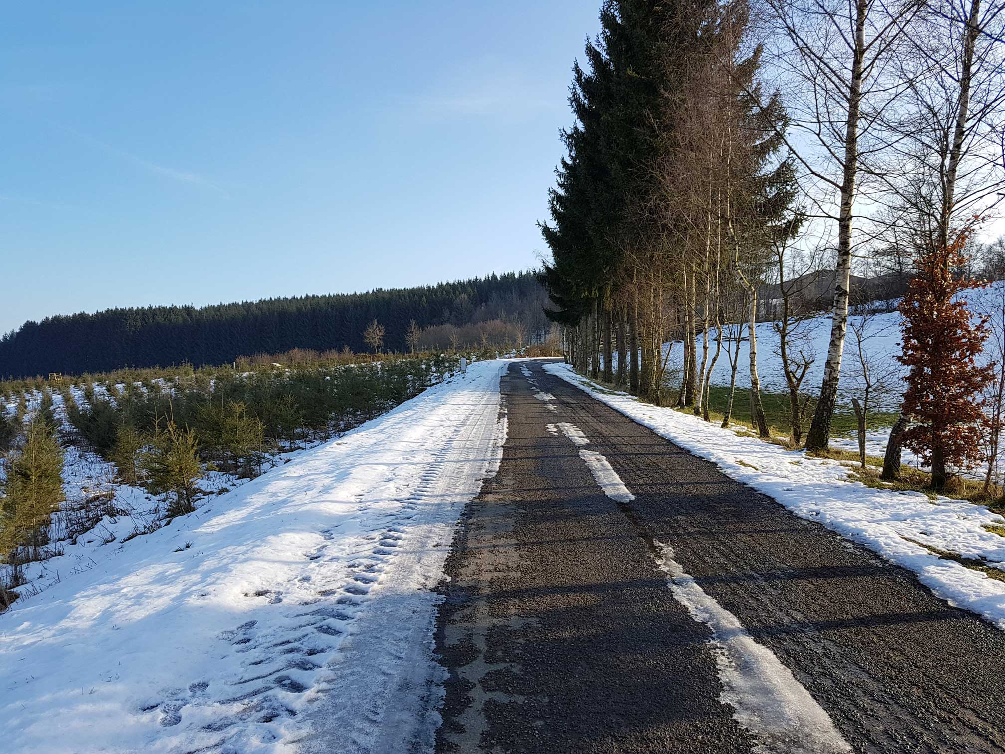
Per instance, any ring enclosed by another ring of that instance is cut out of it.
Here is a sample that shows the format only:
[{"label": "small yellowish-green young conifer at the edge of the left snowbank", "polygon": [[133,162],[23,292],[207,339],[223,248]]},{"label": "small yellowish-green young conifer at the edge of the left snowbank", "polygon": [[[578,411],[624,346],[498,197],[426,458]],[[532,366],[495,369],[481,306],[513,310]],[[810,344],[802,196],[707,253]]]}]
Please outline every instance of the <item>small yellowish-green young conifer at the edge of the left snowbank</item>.
[{"label": "small yellowish-green young conifer at the edge of the left snowbank", "polygon": [[173,496],[169,518],[195,511],[196,483],[204,476],[198,449],[195,430],[182,429],[169,420],[163,429],[155,428],[150,448],[141,454],[140,467],[150,480],[151,491]]}]

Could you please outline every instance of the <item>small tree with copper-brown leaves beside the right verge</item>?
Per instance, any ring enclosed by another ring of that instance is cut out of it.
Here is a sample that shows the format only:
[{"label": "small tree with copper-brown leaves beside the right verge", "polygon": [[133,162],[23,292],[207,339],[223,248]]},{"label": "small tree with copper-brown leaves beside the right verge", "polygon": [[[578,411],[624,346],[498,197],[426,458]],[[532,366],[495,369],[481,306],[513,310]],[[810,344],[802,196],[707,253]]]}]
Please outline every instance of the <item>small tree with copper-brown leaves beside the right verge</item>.
[{"label": "small tree with copper-brown leaves beside the right verge", "polygon": [[976,361],[988,337],[986,321],[975,324],[966,302],[957,298],[985,285],[954,275],[967,260],[970,233],[965,229],[918,258],[917,276],[899,307],[903,354],[897,360],[910,369],[901,410],[917,422],[903,432],[903,441],[931,464],[937,490],[945,488],[949,468],[980,460],[980,427],[987,417],[979,395],[994,375],[992,365]]}]

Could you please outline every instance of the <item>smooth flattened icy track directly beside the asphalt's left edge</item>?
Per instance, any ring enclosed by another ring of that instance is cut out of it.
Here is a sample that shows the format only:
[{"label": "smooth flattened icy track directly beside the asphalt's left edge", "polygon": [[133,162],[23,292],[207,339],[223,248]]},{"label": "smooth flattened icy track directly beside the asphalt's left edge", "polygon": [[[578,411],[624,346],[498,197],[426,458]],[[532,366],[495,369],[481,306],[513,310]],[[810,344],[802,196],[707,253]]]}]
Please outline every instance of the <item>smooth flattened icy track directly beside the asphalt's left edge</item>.
[{"label": "smooth flattened icy track directly beside the asphalt's left edge", "polygon": [[[498,468],[506,431],[496,383],[494,400],[473,402],[446,436],[427,438],[434,456],[401,510],[409,536],[388,548],[393,553],[377,553],[395,558],[396,568],[387,570],[382,598],[361,618],[342,661],[331,669],[326,684],[342,693],[312,713],[314,732],[303,740],[304,752],[431,751],[445,678],[432,658],[435,605],[442,599],[432,587],[442,577],[463,506]],[[381,541],[377,545],[384,549]],[[364,693],[356,697],[347,689]]]}]

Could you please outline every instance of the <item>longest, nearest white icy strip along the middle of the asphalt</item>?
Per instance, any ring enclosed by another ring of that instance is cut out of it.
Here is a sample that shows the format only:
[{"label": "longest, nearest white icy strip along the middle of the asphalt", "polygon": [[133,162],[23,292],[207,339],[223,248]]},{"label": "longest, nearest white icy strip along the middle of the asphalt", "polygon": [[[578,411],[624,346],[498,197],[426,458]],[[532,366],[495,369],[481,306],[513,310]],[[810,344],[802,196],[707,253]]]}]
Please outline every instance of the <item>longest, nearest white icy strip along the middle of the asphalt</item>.
[{"label": "longest, nearest white icy strip along the middle of the asphalt", "polygon": [[[582,452],[582,451],[581,451]],[[747,632],[732,612],[673,560],[669,545],[655,543],[673,597],[695,620],[712,629],[711,643],[723,684],[721,701],[754,737],[757,754],[844,754],[852,748],[830,716],[792,672]]]}]

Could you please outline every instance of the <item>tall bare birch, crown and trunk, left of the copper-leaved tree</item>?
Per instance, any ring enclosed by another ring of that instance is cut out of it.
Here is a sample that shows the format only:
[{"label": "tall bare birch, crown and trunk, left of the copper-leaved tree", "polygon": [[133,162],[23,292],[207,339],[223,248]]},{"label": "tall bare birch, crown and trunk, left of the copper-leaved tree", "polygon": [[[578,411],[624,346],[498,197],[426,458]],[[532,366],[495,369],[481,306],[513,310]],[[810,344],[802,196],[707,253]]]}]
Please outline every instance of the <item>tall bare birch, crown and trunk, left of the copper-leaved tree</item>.
[{"label": "tall bare birch, crown and trunk, left of the copper-leaved tree", "polygon": [[765,0],[771,62],[787,92],[785,136],[818,219],[837,225],[831,334],[807,449],[826,450],[847,332],[855,202],[863,169],[888,144],[881,115],[902,95],[887,75],[906,44],[917,0]]}]

